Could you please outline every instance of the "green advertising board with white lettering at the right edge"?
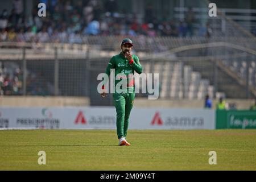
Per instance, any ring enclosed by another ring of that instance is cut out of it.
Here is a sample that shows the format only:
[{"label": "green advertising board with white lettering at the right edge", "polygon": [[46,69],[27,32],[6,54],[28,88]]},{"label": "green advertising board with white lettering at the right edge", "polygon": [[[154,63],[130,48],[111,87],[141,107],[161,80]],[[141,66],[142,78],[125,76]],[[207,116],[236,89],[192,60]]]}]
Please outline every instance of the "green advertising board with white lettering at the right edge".
[{"label": "green advertising board with white lettering at the right edge", "polygon": [[216,110],[216,129],[256,129],[256,111]]}]

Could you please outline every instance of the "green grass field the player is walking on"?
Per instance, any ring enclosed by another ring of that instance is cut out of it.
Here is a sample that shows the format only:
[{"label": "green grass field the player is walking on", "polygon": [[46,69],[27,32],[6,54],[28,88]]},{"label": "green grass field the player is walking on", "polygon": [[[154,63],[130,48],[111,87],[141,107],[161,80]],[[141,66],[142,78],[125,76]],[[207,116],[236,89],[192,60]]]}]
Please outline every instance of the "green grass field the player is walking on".
[{"label": "green grass field the player is walking on", "polygon": [[[255,170],[256,130],[1,130],[1,170]],[[46,152],[46,165],[38,152]],[[217,164],[209,165],[209,151]]]}]

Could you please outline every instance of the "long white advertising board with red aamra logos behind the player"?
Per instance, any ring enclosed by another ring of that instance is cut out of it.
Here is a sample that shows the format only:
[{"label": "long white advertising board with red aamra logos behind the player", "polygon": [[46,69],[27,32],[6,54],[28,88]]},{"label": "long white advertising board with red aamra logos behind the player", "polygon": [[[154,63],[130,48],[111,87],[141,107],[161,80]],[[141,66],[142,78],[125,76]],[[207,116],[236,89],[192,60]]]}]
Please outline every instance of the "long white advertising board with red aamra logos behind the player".
[{"label": "long white advertising board with red aamra logos behind the player", "polygon": [[[0,107],[9,129],[115,129],[114,107]],[[215,110],[134,107],[129,129],[215,129]]]}]

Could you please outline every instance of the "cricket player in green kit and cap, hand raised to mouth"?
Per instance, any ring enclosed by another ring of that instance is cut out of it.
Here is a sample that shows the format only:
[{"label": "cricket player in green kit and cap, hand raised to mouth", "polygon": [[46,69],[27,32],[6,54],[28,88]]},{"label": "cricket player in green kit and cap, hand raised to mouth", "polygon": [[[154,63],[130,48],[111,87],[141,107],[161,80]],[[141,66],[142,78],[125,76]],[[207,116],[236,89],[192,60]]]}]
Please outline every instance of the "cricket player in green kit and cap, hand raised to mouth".
[{"label": "cricket player in green kit and cap, hand raised to mouth", "polygon": [[[130,79],[129,74],[134,74],[134,71],[139,74],[142,73],[142,65],[139,63],[138,56],[131,55],[132,49],[133,42],[131,39],[123,39],[121,43],[122,51],[110,59],[105,71],[105,73],[110,76],[110,69],[114,69],[115,76],[117,76],[118,73],[122,73],[124,76],[122,78],[127,79],[127,86],[120,88],[123,92],[117,93],[115,90],[115,93],[113,93],[114,106],[117,112],[117,137],[119,139],[119,146],[130,146],[130,143],[127,142],[126,135],[129,126],[129,116],[135,98],[135,89],[134,78]],[[121,81],[121,79],[115,79],[115,85],[117,85],[119,81]],[[106,96],[105,85],[102,86],[101,96]]]}]

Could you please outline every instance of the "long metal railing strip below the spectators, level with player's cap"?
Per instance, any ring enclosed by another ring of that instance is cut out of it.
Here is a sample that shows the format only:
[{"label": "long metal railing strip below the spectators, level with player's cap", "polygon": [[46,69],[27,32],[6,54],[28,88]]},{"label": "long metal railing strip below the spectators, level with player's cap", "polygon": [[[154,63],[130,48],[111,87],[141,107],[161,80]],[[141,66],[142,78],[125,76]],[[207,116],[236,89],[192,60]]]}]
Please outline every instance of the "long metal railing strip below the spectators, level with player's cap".
[{"label": "long metal railing strip below the spectators, level with player's cap", "polygon": [[[89,49],[97,49],[98,51],[118,51],[120,49],[120,44],[122,42],[123,36],[81,36],[84,42],[78,44],[69,43],[23,43],[23,42],[0,42],[0,48],[3,50],[5,48],[10,49],[14,52],[14,48],[26,47],[28,49],[37,49],[44,51],[53,52],[54,48],[57,47],[59,51],[63,52],[86,52]],[[136,52],[147,52],[148,53],[161,53],[163,51],[168,51],[169,49],[177,48],[180,46],[187,46],[200,43],[212,43],[212,42],[226,42],[237,44],[242,47],[247,47],[251,49],[256,49],[256,38],[251,37],[240,37],[240,36],[212,36],[211,38],[205,38],[200,36],[195,36],[193,38],[176,38],[171,36],[138,36],[131,37],[134,42],[134,50]],[[1,55],[0,49],[0,55]],[[6,51],[6,49],[5,49]],[[2,51],[3,52],[3,51]],[[4,55],[6,52],[2,53]]]}]

